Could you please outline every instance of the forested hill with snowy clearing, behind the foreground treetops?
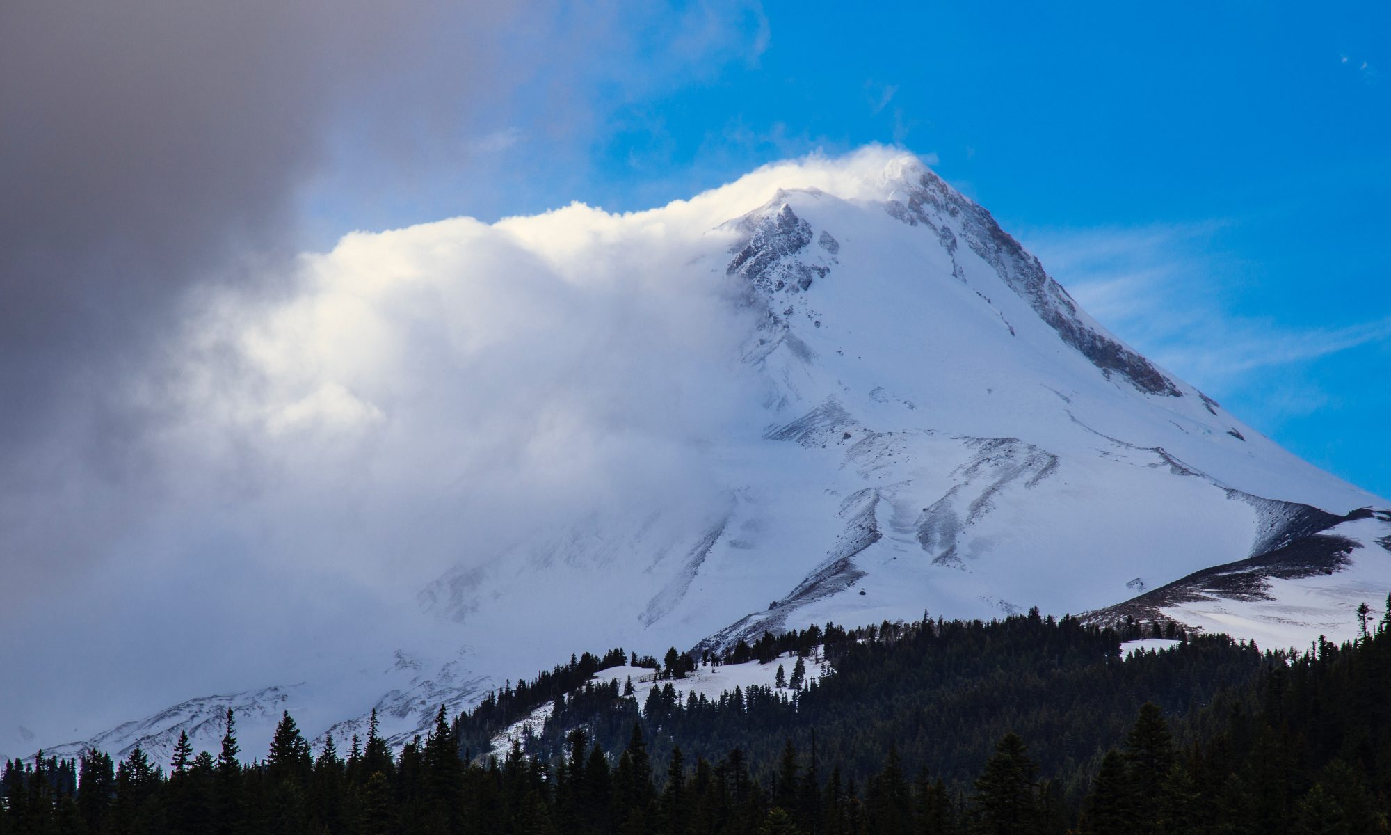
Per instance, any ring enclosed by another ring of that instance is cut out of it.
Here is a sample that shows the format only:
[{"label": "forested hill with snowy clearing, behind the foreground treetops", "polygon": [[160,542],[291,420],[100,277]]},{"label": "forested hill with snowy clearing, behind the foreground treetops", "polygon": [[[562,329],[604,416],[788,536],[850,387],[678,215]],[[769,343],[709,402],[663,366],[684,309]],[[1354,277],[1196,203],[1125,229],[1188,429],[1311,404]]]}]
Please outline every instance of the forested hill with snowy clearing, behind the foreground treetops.
[{"label": "forested hill with snowy clearing, behind the foreground treetops", "polygon": [[[1156,632],[1182,636],[1182,651],[1123,661],[1121,640]],[[1102,629],[1034,611],[993,622],[811,626],[702,654],[701,664],[771,664],[779,655],[786,655],[786,687],[734,687],[718,697],[680,697],[680,682],[659,668],[657,686],[638,704],[620,697],[626,681],[604,682],[601,672],[600,681],[551,703],[541,731],[526,735],[524,753],[551,761],[563,753],[569,729],[584,726],[615,754],[640,722],[661,764],[673,746],[712,761],[739,747],[750,768],[766,777],[787,739],[810,750],[815,731],[822,754],[847,778],[862,782],[876,772],[892,745],[949,785],[970,786],[995,745],[1014,731],[1056,740],[1038,750],[1039,765],[1068,781],[1063,788],[1070,796],[1081,796],[1100,752],[1124,736],[1146,700],[1166,714],[1187,714],[1248,686],[1267,662],[1256,647],[1225,636],[1188,639],[1168,623]],[[808,665],[832,675],[808,676]],[[466,747],[483,750],[502,728],[465,736]]]}]

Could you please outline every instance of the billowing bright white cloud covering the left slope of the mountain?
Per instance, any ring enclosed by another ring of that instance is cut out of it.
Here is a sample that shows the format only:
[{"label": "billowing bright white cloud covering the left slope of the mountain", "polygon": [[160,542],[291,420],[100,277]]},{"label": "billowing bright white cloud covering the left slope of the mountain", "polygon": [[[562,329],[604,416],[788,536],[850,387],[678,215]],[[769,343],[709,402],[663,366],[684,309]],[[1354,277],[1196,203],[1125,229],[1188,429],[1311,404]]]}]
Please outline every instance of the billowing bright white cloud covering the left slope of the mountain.
[{"label": "billowing bright white cloud covering the left slope of the mountain", "polygon": [[[444,569],[613,508],[707,518],[727,501],[709,440],[757,436],[743,422],[765,397],[739,372],[754,313],[721,225],[779,186],[853,196],[865,164],[771,166],[643,213],[353,232],[271,274],[282,292],[199,288],[122,387],[160,415],[122,482],[142,493],[92,501],[139,515],[89,557],[54,554],[42,605],[15,596],[0,665],[33,687],[0,715],[90,732],[398,640],[483,643],[420,621],[416,594]],[[35,494],[29,530],[74,522],[53,495]],[[93,682],[118,682],[95,710]]]}]

